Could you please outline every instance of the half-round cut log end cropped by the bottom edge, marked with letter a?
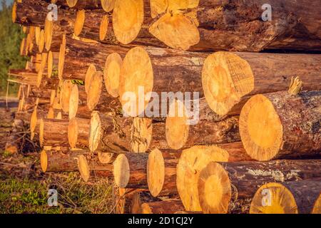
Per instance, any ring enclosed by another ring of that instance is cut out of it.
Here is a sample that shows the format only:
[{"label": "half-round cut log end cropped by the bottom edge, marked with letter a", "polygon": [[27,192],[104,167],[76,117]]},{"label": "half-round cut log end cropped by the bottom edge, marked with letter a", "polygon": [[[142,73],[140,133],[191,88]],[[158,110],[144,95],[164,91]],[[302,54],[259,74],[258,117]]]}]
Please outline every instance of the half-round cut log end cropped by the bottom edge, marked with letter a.
[{"label": "half-round cut log end cropped by the bottom edge, marked with letter a", "polygon": [[290,190],[276,182],[261,186],[251,202],[250,214],[297,214],[297,204]]}]

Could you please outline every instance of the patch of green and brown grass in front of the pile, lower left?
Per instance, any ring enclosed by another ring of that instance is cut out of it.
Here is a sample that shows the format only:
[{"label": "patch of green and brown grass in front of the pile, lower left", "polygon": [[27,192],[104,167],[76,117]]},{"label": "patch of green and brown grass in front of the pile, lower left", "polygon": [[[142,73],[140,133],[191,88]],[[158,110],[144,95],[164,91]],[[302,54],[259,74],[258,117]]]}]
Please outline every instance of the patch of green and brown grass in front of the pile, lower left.
[{"label": "patch of green and brown grass in front of the pile, lower left", "polygon": [[[58,191],[58,207],[49,207],[49,189]],[[1,176],[0,213],[109,213],[111,185],[98,180],[86,185],[78,173],[49,175],[40,180]]]}]

